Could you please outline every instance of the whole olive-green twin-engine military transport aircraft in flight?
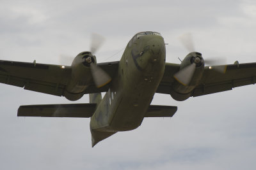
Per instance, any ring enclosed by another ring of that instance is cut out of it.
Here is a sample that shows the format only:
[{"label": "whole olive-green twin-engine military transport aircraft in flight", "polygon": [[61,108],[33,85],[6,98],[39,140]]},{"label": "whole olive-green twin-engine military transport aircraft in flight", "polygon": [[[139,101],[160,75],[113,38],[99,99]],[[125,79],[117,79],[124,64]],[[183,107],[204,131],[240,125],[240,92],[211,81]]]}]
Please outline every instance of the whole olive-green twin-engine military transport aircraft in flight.
[{"label": "whole olive-green twin-engine military transport aircraft in flight", "polygon": [[[256,63],[205,66],[199,52],[190,52],[180,64],[166,63],[158,32],[133,36],[120,61],[97,64],[98,47],[79,53],[71,66],[0,60],[1,83],[70,101],[90,97],[86,104],[20,106],[18,117],[90,118],[95,146],[116,132],[136,129],[144,117],[172,117],[176,106],[150,105],[155,93],[184,101],[256,82]],[[106,92],[103,99],[101,92]]]}]

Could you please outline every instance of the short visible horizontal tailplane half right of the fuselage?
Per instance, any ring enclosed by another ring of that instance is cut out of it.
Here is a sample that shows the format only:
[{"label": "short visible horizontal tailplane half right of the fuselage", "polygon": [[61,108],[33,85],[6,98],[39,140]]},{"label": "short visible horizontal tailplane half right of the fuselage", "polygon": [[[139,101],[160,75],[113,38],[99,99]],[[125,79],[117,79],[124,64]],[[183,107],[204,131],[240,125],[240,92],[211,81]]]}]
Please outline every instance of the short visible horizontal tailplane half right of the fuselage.
[{"label": "short visible horizontal tailplane half right of the fuselage", "polygon": [[172,117],[177,111],[177,106],[150,105],[145,117]]}]

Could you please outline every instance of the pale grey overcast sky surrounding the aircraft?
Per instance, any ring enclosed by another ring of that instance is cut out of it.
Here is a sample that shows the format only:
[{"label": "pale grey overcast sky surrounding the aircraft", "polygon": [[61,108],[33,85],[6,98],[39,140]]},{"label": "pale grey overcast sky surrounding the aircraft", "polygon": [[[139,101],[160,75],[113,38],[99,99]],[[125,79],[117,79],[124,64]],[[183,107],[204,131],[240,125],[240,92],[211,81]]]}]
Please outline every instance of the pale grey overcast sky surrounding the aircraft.
[{"label": "pale grey overcast sky surrounding the aircraft", "polygon": [[[166,61],[188,51],[178,37],[193,34],[205,59],[256,61],[255,1],[5,1],[0,5],[0,59],[60,64],[106,37],[98,62],[120,60],[137,32],[161,32]],[[91,148],[87,118],[23,118],[24,104],[72,103],[0,85],[0,169],[255,169],[254,85],[177,102],[156,94],[152,104],[178,106],[173,118],[145,118]],[[76,103],[88,103],[84,96]]]}]

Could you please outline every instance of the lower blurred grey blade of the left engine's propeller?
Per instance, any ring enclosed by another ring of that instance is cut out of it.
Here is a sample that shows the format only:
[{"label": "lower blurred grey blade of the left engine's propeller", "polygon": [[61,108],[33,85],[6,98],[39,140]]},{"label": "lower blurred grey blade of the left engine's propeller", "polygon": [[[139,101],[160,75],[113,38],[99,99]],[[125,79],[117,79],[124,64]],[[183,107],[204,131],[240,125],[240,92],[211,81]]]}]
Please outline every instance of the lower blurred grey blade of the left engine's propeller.
[{"label": "lower blurred grey blade of the left engine's propeller", "polygon": [[94,63],[90,64],[92,77],[97,88],[103,87],[111,81],[111,77],[103,69]]}]

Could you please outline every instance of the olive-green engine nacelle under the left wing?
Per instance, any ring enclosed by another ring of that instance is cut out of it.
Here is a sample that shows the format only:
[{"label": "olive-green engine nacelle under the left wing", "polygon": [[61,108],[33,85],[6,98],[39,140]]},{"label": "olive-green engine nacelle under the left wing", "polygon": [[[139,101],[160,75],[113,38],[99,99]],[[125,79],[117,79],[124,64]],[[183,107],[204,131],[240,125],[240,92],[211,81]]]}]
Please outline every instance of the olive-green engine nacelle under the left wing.
[{"label": "olive-green engine nacelle under the left wing", "polygon": [[83,97],[84,90],[92,82],[91,62],[96,62],[96,57],[91,52],[81,52],[73,60],[71,79],[64,93],[68,100],[76,101]]}]

